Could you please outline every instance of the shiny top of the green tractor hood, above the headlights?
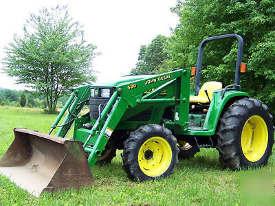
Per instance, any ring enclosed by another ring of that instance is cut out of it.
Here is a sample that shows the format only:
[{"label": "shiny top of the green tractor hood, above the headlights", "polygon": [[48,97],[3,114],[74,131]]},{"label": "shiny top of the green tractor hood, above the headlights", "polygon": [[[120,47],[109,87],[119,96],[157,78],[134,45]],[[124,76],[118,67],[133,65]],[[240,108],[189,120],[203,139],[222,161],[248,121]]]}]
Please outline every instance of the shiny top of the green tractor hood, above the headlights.
[{"label": "shiny top of the green tractor hood, above the headlights", "polygon": [[127,82],[142,80],[150,76],[153,77],[153,75],[122,76],[120,78],[115,78],[113,81],[109,81],[109,82],[96,82],[93,84],[93,87],[115,87],[120,84],[125,84]]}]

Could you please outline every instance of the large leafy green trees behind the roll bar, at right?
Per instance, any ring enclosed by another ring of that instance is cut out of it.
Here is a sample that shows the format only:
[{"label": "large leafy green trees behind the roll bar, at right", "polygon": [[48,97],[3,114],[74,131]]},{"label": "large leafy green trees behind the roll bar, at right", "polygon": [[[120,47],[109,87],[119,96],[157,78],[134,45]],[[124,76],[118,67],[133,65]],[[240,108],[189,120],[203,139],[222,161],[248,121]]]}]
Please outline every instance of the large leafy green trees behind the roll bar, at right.
[{"label": "large leafy green trees behind the roll bar, at right", "polygon": [[[241,76],[241,87],[266,102],[274,113],[275,1],[178,0],[172,11],[179,16],[180,23],[169,38],[170,68],[197,65],[203,38],[240,34],[244,40],[243,62],[248,62],[248,72]],[[223,85],[234,82],[237,42],[232,40],[206,46],[202,81],[218,80]]]}]

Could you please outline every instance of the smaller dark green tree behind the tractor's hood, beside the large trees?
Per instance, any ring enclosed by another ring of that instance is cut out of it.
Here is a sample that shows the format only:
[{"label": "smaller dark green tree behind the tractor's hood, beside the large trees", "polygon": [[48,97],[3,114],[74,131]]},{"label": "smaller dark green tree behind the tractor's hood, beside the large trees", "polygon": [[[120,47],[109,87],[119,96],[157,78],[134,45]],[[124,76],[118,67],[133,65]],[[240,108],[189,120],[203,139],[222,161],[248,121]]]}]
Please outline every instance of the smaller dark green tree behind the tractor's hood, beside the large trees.
[{"label": "smaller dark green tree behind the tractor's hood, beside the large trees", "polygon": [[131,73],[158,73],[164,67],[165,60],[168,60],[167,45],[168,37],[162,35],[155,37],[148,47],[141,45],[138,62]]}]

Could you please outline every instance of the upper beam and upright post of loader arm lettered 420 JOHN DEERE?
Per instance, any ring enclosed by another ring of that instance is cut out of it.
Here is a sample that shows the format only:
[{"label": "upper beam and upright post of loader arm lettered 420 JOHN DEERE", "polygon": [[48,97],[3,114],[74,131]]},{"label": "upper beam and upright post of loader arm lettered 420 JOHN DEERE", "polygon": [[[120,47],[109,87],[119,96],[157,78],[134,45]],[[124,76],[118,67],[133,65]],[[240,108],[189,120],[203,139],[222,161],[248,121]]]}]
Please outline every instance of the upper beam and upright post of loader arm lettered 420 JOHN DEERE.
[{"label": "upper beam and upright post of loader arm lettered 420 JOHN DEERE", "polygon": [[[157,98],[153,99],[155,95],[162,91],[168,84],[175,81],[175,94],[172,98]],[[134,86],[132,88],[132,86]],[[145,91],[155,88],[154,91],[144,95]],[[124,98],[130,106],[137,106],[137,104],[148,103],[162,103],[162,102],[175,102],[175,125],[182,129],[188,127],[188,111],[189,111],[189,95],[190,95],[190,70],[179,69],[168,73],[162,73],[158,76],[145,78],[123,84],[118,87],[118,93]]]}]

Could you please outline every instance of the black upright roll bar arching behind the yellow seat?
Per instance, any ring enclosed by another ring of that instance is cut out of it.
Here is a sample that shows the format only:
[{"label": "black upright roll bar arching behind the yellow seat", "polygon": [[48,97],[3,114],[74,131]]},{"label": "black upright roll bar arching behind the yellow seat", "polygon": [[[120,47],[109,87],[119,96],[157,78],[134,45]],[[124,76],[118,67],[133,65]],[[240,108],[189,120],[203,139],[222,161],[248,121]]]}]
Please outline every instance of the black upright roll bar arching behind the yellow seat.
[{"label": "black upright roll bar arching behind the yellow seat", "polygon": [[225,34],[221,36],[212,36],[209,38],[204,39],[201,42],[201,45],[199,45],[199,54],[198,54],[198,59],[197,59],[197,71],[196,71],[196,80],[195,80],[195,90],[196,90],[196,95],[199,93],[199,82],[201,80],[201,66],[202,66],[202,60],[203,60],[203,47],[210,41],[216,41],[221,38],[230,38],[230,37],[236,37],[238,39],[238,54],[236,58],[236,73],[235,73],[235,82],[234,84],[240,84],[240,67],[241,67],[241,62],[243,60],[243,38],[238,35],[238,34]]}]

